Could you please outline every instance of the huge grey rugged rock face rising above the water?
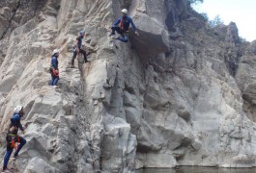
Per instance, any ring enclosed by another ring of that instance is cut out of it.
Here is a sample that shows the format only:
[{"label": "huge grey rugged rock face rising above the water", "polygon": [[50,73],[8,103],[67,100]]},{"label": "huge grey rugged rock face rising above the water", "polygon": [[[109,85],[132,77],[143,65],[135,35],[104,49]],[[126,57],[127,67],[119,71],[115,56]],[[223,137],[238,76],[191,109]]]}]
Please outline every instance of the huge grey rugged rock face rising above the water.
[{"label": "huge grey rugged rock face rising above the water", "polygon": [[[34,15],[1,7],[0,28],[20,16],[0,33],[3,145],[14,107],[26,111],[19,172],[255,166],[256,48],[235,23],[212,29],[185,0],[47,0]],[[128,43],[107,37],[122,8],[140,34],[130,30]],[[78,56],[69,68],[80,30],[91,62]],[[57,47],[59,89],[47,73]]]}]

